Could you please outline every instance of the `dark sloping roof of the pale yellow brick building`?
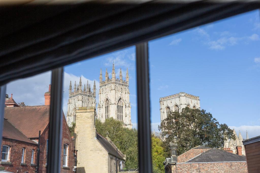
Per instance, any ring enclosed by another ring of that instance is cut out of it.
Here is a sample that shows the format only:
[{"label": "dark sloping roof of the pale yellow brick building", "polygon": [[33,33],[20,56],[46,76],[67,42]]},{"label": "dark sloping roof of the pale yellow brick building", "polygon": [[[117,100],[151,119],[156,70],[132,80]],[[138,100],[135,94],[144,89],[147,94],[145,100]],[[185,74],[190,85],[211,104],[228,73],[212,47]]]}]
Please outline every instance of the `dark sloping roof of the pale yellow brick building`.
[{"label": "dark sloping roof of the pale yellow brick building", "polygon": [[[108,153],[116,156],[116,147],[115,144],[111,141],[108,141],[105,137],[101,136],[100,134],[97,133],[97,140],[100,142],[100,144],[108,151]],[[118,149],[118,158],[121,160],[123,159],[124,155],[122,152]]]}]

